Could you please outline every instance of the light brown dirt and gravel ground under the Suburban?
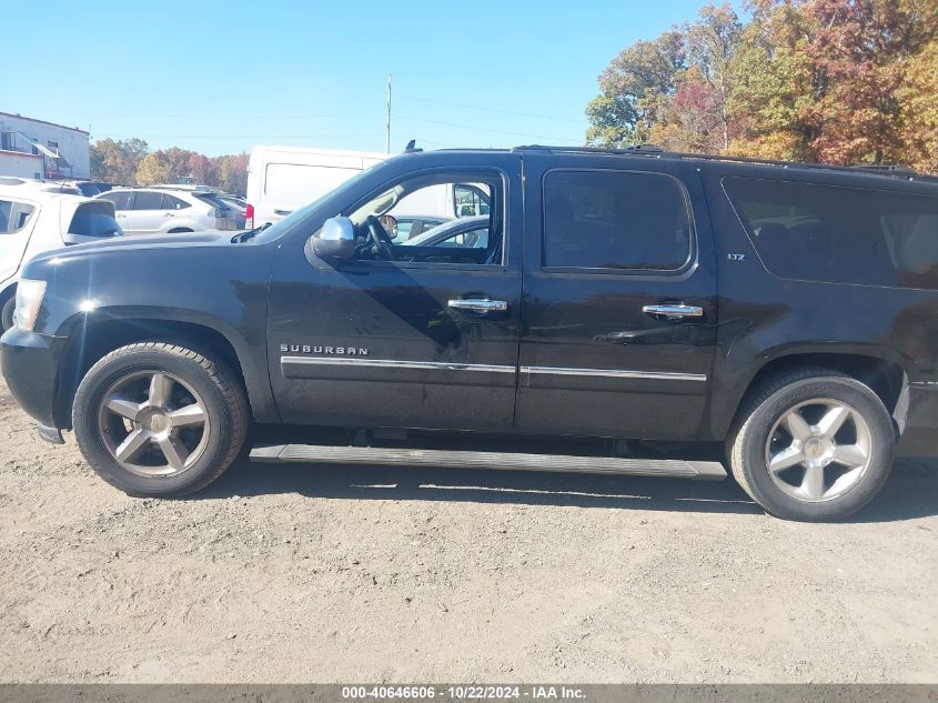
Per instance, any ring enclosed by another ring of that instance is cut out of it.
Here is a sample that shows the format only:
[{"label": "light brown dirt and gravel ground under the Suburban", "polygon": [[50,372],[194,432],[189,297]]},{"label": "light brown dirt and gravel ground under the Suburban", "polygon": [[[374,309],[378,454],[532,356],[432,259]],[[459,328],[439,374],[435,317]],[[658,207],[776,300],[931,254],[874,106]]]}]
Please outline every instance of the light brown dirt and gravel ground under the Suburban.
[{"label": "light brown dirt and gravel ground under the Suburban", "polygon": [[236,464],[129,499],[0,385],[0,680],[938,679],[938,462],[849,524],[732,482]]}]

